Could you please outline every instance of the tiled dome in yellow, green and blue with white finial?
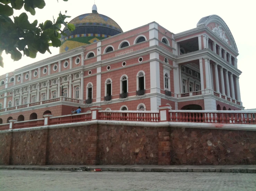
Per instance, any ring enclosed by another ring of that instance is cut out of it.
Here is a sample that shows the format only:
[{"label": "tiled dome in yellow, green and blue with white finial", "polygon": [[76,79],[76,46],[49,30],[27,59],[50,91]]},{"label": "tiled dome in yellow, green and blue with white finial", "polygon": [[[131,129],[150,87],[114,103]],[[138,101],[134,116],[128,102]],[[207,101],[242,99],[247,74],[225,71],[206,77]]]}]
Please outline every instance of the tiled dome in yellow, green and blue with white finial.
[{"label": "tiled dome in yellow, green and blue with white finial", "polygon": [[90,43],[122,33],[121,27],[111,18],[99,14],[97,7],[92,7],[92,13],[82,14],[69,23],[74,24],[76,30],[69,32],[64,28],[67,37],[61,37],[60,53],[85,46]]}]

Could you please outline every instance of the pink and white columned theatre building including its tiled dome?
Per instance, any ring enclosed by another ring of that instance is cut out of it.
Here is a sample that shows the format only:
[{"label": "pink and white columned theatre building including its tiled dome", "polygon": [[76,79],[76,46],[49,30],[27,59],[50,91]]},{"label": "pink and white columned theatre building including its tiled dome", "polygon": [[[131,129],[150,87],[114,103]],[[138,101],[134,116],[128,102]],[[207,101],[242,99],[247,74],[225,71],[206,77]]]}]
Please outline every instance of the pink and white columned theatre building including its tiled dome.
[{"label": "pink and white columned theatre building including its tiled dome", "polygon": [[217,15],[178,34],[156,22],[123,32],[95,5],[70,23],[76,30],[62,37],[60,54],[0,76],[0,123],[70,114],[78,106],[244,109],[236,42]]}]

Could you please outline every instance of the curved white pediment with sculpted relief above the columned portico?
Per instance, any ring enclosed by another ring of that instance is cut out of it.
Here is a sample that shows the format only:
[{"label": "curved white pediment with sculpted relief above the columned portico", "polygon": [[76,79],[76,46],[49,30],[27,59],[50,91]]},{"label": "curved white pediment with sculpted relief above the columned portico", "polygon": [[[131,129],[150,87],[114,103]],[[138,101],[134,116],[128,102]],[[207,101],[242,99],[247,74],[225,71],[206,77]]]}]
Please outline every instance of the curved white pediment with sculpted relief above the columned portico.
[{"label": "curved white pediment with sculpted relief above the columned portico", "polygon": [[210,15],[203,17],[198,21],[196,27],[208,27],[216,36],[218,36],[224,43],[228,44],[232,49],[238,52],[235,39],[227,24],[218,15]]}]

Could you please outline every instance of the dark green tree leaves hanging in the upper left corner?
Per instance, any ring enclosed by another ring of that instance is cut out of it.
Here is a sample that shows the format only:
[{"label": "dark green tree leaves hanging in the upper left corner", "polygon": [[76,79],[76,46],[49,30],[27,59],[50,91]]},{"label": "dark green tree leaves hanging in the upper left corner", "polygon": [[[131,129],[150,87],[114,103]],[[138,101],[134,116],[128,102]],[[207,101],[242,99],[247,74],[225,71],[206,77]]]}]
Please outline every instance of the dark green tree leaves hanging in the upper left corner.
[{"label": "dark green tree leaves hanging in the upper left corner", "polygon": [[[57,0],[58,1],[58,0]],[[63,0],[68,1],[68,0]],[[14,11],[24,8],[32,15],[36,14],[35,8],[43,9],[44,0],[0,0],[0,66],[3,67],[2,52],[11,54],[11,59],[18,61],[23,55],[36,58],[37,52],[44,54],[50,52],[49,47],[60,47],[61,34],[67,36],[61,27],[64,25],[70,31],[75,29],[73,24],[65,22],[65,14],[59,13],[59,17],[53,21],[46,20],[39,23],[35,20],[30,23],[26,12],[14,17]],[[67,11],[65,11],[67,13]]]}]

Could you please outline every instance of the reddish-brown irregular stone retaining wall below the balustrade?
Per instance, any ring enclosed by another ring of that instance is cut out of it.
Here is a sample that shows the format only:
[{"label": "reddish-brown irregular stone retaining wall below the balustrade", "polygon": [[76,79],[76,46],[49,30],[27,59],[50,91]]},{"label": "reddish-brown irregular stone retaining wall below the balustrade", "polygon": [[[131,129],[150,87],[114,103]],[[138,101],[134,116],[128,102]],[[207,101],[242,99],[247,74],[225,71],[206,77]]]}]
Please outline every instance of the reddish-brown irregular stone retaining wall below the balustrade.
[{"label": "reddish-brown irregular stone retaining wall below the balustrade", "polygon": [[256,132],[92,124],[0,134],[0,164],[256,164]]}]

